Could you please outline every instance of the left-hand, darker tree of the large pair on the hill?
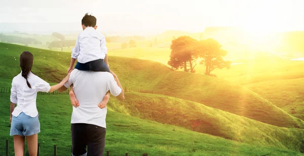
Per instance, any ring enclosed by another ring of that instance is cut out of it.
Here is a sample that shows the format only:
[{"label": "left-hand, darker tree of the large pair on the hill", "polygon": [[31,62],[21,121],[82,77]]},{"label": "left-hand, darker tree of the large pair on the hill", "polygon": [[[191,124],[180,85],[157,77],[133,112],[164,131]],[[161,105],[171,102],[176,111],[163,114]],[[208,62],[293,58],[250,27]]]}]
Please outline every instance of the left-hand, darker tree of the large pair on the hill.
[{"label": "left-hand, darker tree of the large pair on the hill", "polygon": [[[168,65],[174,70],[183,68],[185,72],[190,70],[190,72],[194,73],[196,59],[198,59],[197,50],[195,50],[197,42],[196,39],[189,36],[180,36],[172,40]],[[187,67],[190,67],[190,69],[187,69]]]}]

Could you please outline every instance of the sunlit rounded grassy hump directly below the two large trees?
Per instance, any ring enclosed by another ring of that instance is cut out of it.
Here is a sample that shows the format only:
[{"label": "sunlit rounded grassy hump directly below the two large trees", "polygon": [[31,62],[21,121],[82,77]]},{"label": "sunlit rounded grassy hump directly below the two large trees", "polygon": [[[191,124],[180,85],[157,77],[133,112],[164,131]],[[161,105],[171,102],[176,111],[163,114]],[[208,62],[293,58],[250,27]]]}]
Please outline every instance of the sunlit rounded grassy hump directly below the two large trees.
[{"label": "sunlit rounded grassy hump directly below the two large trees", "polygon": [[292,117],[270,101],[243,86],[200,74],[170,72],[154,88],[166,95],[203,103],[206,106],[280,127],[301,127]]}]

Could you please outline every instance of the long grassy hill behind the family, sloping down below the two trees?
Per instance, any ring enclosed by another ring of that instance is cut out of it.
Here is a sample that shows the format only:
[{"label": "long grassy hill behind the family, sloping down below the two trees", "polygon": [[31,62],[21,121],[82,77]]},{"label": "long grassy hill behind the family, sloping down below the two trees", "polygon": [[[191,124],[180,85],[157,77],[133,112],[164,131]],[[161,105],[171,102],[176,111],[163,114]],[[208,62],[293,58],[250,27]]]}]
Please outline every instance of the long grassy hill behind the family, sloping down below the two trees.
[{"label": "long grassy hill behind the family, sloping down below the two trees", "polygon": [[[66,75],[69,53],[0,43],[0,61],[3,62],[0,78],[12,79],[20,72],[18,58],[20,51],[24,50],[34,55],[33,72],[36,75],[49,82],[59,82]],[[160,63],[132,58],[110,57],[109,63],[126,87],[154,90],[280,127],[304,127],[302,120],[290,116],[258,94],[219,78],[173,72]]]}]

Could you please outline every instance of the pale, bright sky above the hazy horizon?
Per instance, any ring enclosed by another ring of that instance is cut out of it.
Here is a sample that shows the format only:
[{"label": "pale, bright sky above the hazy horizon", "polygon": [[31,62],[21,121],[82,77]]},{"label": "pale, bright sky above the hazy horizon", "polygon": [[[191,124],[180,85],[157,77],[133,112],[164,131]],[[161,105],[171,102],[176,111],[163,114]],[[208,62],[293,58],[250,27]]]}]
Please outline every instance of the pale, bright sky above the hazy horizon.
[{"label": "pale, bright sky above the hazy horizon", "polygon": [[[209,26],[240,26],[252,32],[304,30],[301,0],[0,0],[0,30],[81,30],[89,12],[106,31],[204,31]],[[37,26],[40,25],[40,26]]]}]

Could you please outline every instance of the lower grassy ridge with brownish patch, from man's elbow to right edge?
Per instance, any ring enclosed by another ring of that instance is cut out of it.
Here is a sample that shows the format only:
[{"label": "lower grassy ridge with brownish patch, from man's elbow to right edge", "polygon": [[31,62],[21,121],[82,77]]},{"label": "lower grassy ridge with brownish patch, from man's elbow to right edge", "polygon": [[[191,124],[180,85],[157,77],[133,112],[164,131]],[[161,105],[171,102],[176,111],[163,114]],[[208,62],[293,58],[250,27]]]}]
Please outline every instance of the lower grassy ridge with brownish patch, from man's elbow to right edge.
[{"label": "lower grassy ridge with brownish patch, from man's elbow to right edge", "polygon": [[138,92],[125,96],[124,102],[111,98],[108,107],[126,115],[254,145],[297,150],[301,138],[304,138],[304,129],[264,124],[201,103]]}]

